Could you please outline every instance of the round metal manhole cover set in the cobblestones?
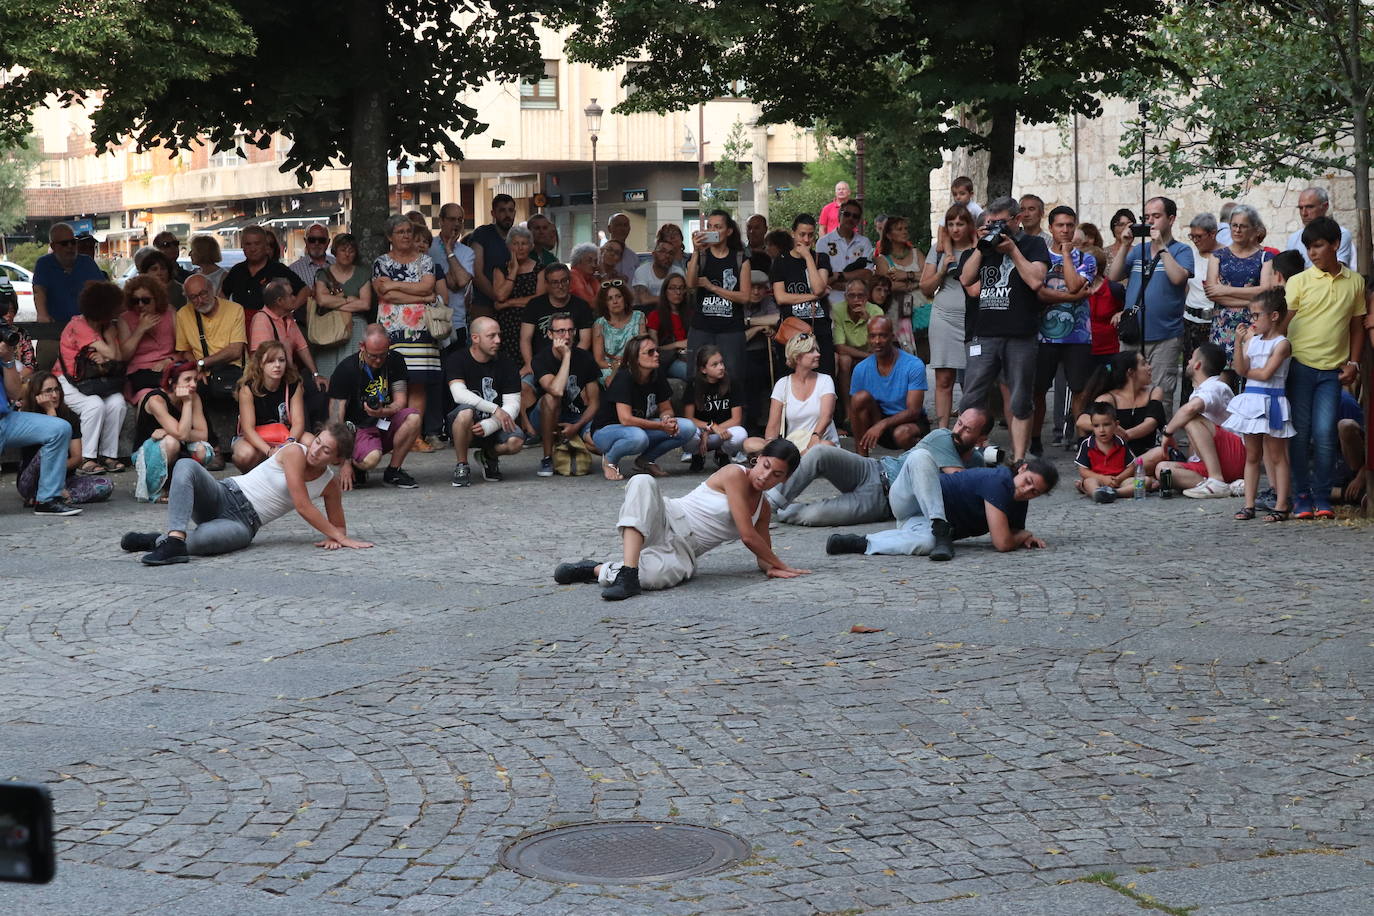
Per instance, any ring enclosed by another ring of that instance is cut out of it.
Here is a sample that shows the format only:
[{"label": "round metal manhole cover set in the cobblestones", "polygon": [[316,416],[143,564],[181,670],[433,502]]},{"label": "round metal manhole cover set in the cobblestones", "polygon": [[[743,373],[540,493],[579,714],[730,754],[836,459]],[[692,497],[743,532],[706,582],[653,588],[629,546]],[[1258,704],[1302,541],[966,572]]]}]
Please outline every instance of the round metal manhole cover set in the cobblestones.
[{"label": "round metal manhole cover set in the cobblestones", "polygon": [[714,827],[594,821],[526,834],[502,865],[529,878],[580,884],[654,884],[695,878],[749,857],[749,843]]}]

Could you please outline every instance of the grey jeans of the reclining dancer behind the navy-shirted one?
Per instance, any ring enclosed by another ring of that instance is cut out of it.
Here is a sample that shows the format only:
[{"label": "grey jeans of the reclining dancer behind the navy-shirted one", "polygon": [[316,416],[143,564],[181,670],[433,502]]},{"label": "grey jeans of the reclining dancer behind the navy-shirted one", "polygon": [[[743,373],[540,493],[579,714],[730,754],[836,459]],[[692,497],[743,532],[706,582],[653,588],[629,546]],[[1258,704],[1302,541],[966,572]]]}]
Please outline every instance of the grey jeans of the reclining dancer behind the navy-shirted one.
[{"label": "grey jeans of the reclining dancer behind the navy-shirted one", "polygon": [[[840,490],[816,503],[793,503],[816,478],[830,481]],[[883,522],[888,512],[888,488],[882,481],[882,464],[829,445],[818,445],[801,456],[801,464],[783,483],[769,493],[769,501],[782,505],[778,520],[787,525],[824,527],[831,525],[864,525]]]}]

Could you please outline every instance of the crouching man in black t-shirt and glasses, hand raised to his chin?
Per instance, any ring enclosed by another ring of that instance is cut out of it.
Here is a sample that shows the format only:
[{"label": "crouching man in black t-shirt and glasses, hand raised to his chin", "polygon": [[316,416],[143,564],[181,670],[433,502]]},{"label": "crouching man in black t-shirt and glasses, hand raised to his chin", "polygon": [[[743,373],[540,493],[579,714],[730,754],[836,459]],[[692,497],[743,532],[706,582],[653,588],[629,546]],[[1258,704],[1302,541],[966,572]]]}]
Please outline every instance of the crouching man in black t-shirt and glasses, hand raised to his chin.
[{"label": "crouching man in black t-shirt and glasses, hand raised to his chin", "polygon": [[573,317],[559,312],[548,323],[550,345],[534,357],[540,391],[537,426],[544,444],[540,477],[554,475],[555,438],[581,438],[592,448],[588,430],[600,405],[600,368],[591,353],[573,343],[576,330]]}]

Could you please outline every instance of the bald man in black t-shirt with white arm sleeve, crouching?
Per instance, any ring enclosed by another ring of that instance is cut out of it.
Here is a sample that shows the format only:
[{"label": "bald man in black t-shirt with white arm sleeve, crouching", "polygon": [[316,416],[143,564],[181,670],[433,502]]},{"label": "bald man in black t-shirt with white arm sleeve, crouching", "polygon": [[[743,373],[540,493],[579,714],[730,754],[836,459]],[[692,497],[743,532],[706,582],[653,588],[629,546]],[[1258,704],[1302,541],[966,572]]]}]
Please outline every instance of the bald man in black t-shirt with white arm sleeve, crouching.
[{"label": "bald man in black t-shirt with white arm sleeve, crouching", "polygon": [[467,325],[471,346],[453,350],[444,360],[444,378],[458,405],[447,424],[453,434],[453,486],[471,486],[467,449],[478,448],[482,478],[503,481],[500,456],[525,448],[519,416],[519,369],[500,353],[502,330],[496,319],[481,317]]}]

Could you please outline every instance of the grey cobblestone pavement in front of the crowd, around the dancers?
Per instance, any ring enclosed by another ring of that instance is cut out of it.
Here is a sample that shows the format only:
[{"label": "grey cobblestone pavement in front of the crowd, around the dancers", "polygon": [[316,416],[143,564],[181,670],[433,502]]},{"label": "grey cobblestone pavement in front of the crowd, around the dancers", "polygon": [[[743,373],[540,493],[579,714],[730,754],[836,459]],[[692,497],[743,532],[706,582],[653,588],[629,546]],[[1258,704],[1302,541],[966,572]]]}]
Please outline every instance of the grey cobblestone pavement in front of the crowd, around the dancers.
[{"label": "grey cobblestone pavement in front of the crowd, around the dancers", "polygon": [[[539,479],[536,457],[455,490],[447,456],[415,456],[420,489],[346,500],[374,551],[315,549],[293,518],[161,570],[117,548],[162,525],[132,482],[47,520],[7,481],[0,770],[51,786],[60,867],[0,906],[1367,906],[1374,636],[1352,570],[1374,529],[1065,485],[1030,509],[1047,551],[829,558],[826,530],[783,526],[813,575],[767,581],[732,545],[606,604],[550,571],[614,553],[621,486]],[[668,493],[695,485],[671,467]],[[754,856],[643,887],[496,861],[526,831],[629,817],[720,825]]]}]

